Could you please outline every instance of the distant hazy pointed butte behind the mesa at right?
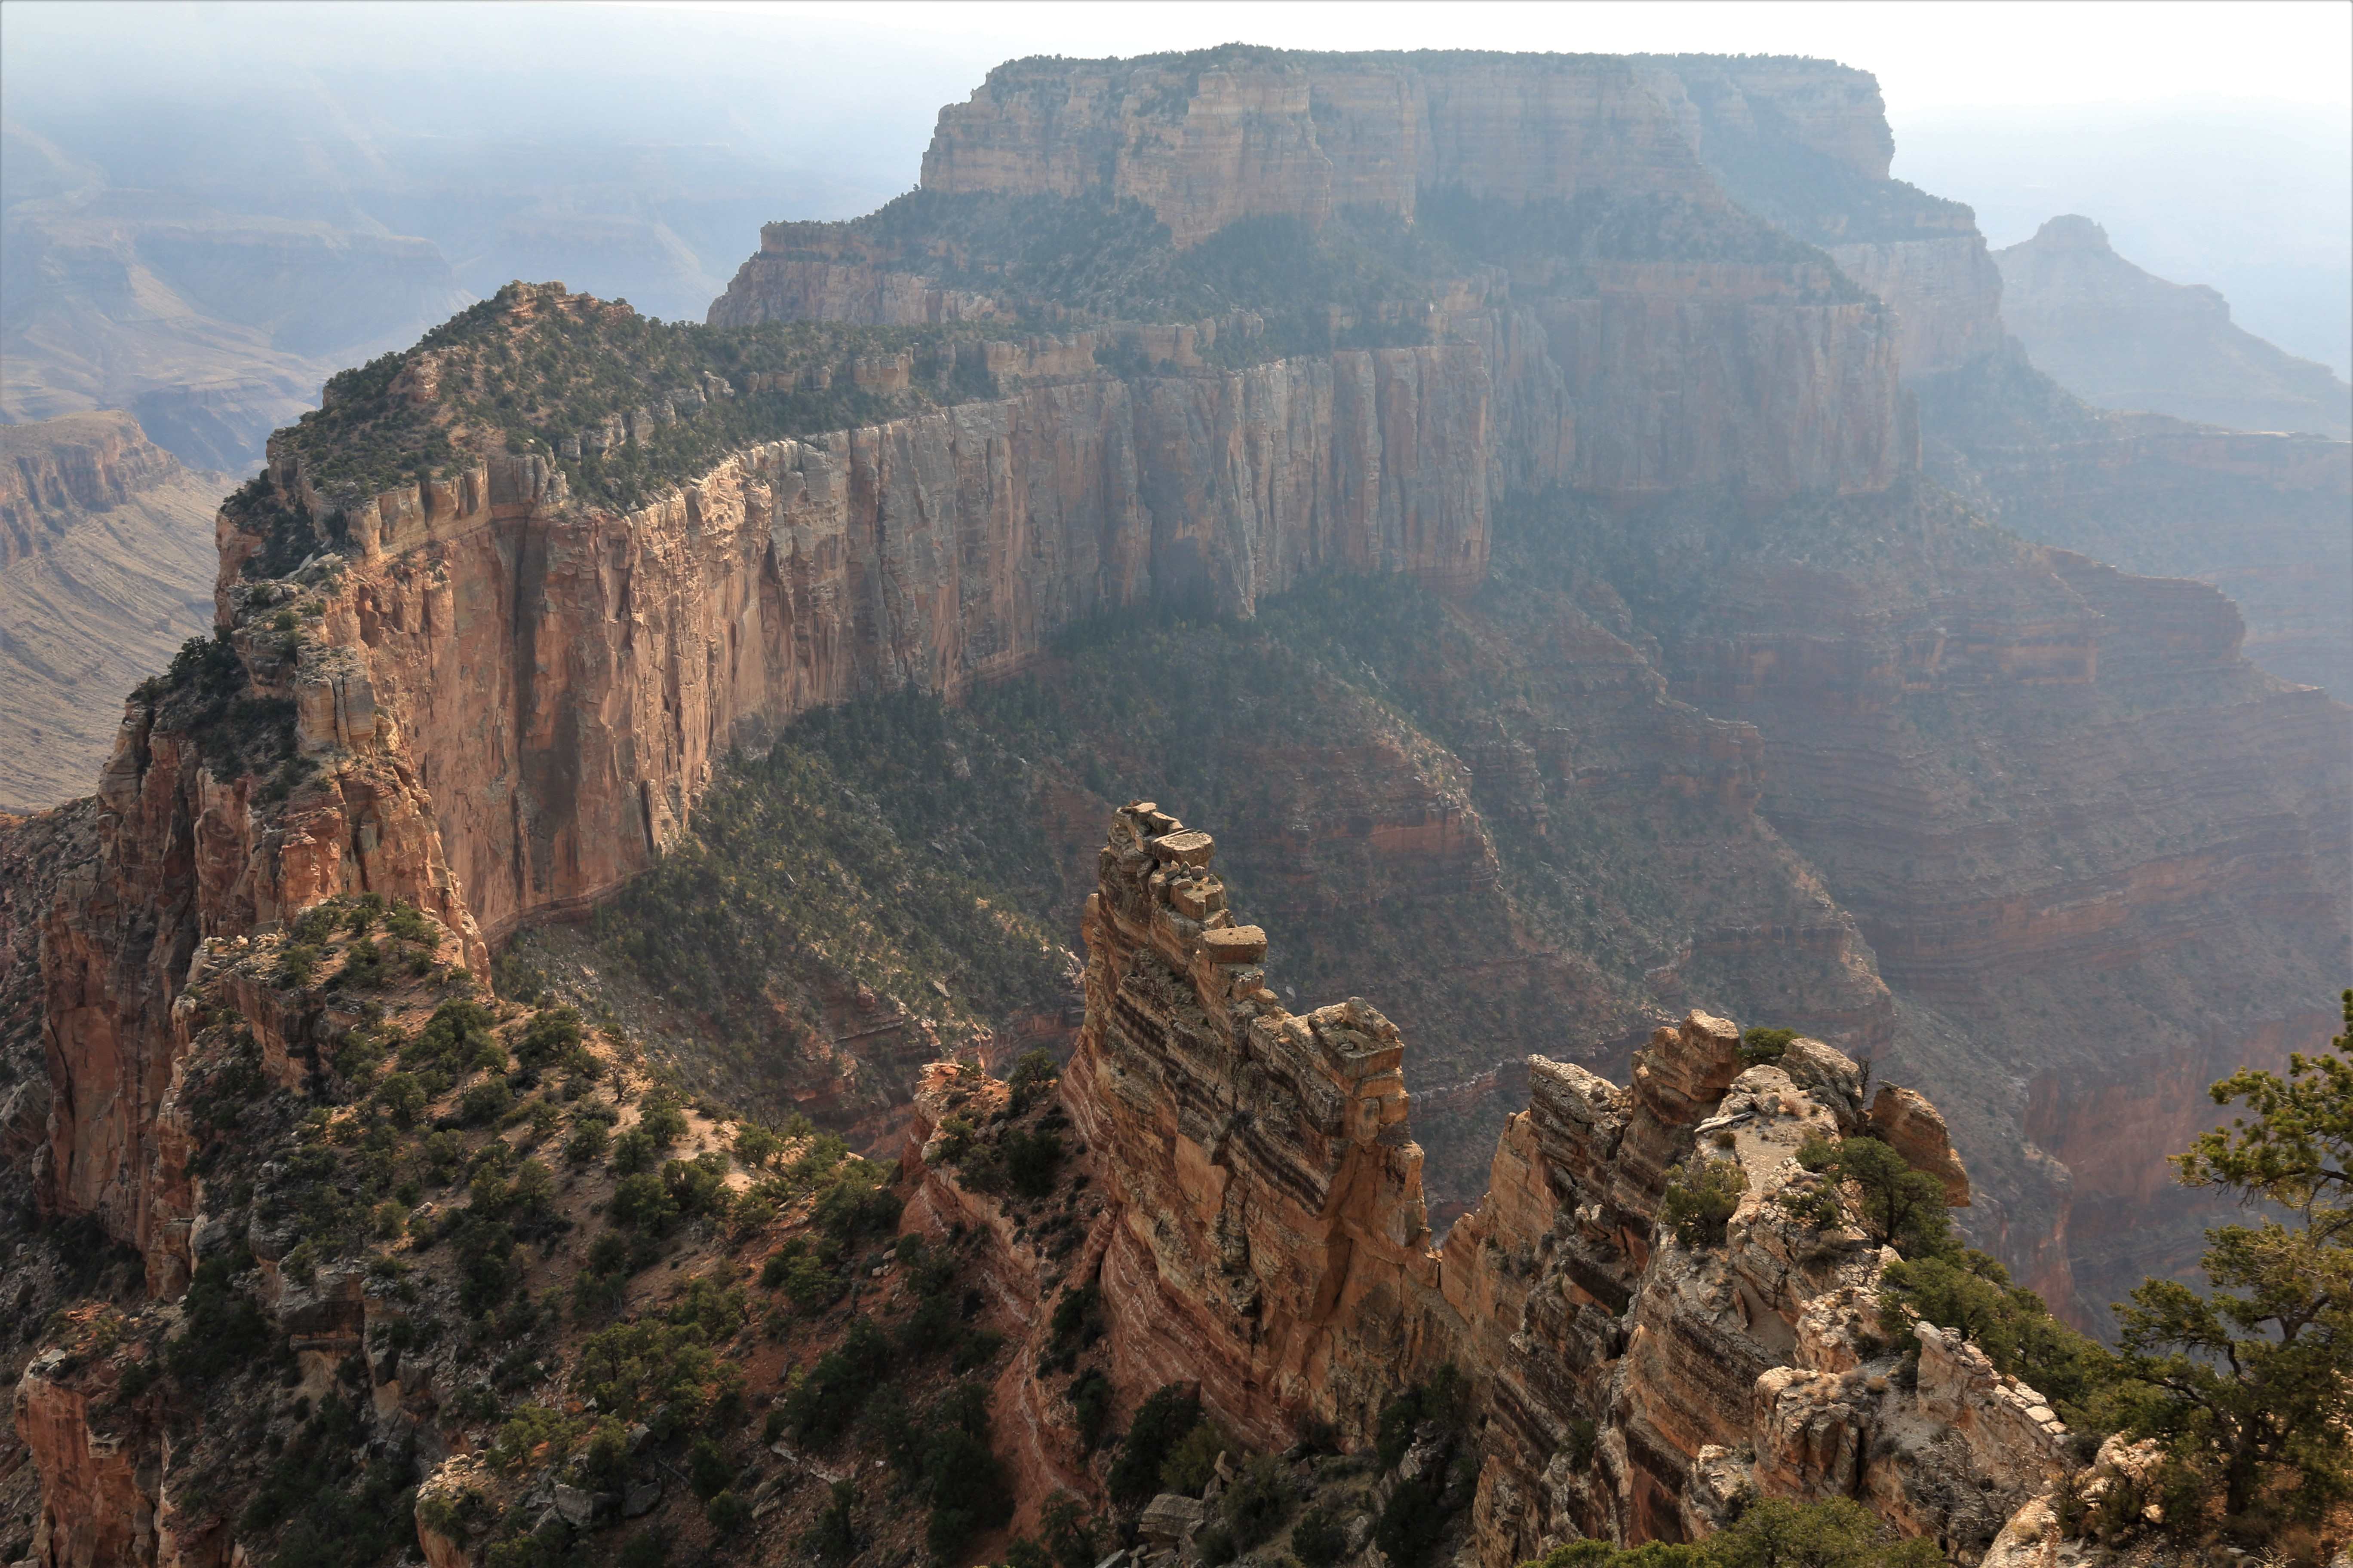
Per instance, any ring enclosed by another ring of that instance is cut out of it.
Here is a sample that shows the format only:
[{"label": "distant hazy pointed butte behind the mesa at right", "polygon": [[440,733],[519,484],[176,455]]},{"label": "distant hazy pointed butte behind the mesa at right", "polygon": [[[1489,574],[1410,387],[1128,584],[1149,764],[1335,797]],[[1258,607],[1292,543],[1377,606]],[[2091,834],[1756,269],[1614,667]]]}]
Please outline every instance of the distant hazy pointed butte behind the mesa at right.
[{"label": "distant hazy pointed butte behind the mesa at right", "polygon": [[2132,266],[2092,219],[2052,219],[1993,261],[2009,331],[2038,369],[2087,402],[2353,437],[2353,388],[2235,327],[2214,289]]}]

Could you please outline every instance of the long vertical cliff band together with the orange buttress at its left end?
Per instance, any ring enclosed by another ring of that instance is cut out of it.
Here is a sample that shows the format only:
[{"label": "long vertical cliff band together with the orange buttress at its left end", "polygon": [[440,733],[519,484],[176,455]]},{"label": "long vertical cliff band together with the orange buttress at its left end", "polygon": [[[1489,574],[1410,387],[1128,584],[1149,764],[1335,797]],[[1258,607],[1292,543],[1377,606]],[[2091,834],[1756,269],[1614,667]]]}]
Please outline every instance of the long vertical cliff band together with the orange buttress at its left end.
[{"label": "long vertical cliff band together with the orange buttress at its left end", "polygon": [[351,501],[280,454],[275,496],[344,548],[247,578],[266,541],[224,512],[219,611],[238,712],[280,715],[287,759],[134,698],[52,922],[56,1204],[176,1276],[153,1121],[200,938],[376,891],[496,940],[652,865],[760,724],[953,696],[1120,604],[1247,614],[1334,569],[1475,583],[1487,400],[1464,348],[1092,374],[751,447],[633,512],[572,503],[546,458]]}]

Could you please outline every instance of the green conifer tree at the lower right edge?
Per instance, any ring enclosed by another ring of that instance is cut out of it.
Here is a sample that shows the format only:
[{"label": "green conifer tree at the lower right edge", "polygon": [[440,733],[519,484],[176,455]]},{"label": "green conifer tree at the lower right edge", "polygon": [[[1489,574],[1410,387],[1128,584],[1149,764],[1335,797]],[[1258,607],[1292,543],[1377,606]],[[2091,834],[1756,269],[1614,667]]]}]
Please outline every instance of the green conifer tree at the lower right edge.
[{"label": "green conifer tree at the lower right edge", "polygon": [[2240,1070],[2214,1103],[2247,1117],[2198,1138],[2181,1182],[2268,1213],[2207,1232],[2212,1293],[2151,1279],[2120,1307],[2134,1427],[2219,1490],[2259,1535],[2353,1497],[2353,990],[2329,1051],[2287,1074]]}]

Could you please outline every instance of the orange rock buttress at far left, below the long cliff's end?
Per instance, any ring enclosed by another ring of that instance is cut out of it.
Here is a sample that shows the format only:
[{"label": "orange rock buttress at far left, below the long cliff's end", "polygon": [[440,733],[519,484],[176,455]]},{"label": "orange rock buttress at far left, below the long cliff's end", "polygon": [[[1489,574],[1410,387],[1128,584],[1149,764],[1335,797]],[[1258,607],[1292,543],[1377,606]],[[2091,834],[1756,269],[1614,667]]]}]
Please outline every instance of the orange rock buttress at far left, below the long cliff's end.
[{"label": "orange rock buttress at far left, below the long cliff's end", "polygon": [[[327,588],[325,576],[306,585]],[[235,658],[247,712],[287,712],[292,755],[278,778],[245,771],[216,731],[176,722],[188,710],[169,691],[144,689],[99,778],[94,844],[61,872],[42,931],[42,1197],[139,1246],[158,1293],[176,1293],[191,1267],[193,1208],[167,1157],[165,1105],[191,1030],[176,999],[200,940],[372,891],[442,919],[461,933],[461,961],[487,973],[431,795],[355,661],[318,642],[287,649],[259,618],[240,628]]]}]

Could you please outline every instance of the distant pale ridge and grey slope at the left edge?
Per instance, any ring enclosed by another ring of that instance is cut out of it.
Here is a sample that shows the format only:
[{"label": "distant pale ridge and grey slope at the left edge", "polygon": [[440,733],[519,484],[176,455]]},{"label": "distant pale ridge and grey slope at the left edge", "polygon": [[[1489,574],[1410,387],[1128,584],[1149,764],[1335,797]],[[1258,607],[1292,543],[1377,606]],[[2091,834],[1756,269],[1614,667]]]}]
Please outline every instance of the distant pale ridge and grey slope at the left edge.
[{"label": "distant pale ridge and grey slope at the left edge", "polygon": [[0,802],[87,790],[120,693],[205,632],[226,491],[129,414],[0,425]]}]

